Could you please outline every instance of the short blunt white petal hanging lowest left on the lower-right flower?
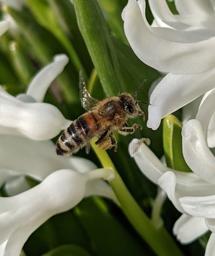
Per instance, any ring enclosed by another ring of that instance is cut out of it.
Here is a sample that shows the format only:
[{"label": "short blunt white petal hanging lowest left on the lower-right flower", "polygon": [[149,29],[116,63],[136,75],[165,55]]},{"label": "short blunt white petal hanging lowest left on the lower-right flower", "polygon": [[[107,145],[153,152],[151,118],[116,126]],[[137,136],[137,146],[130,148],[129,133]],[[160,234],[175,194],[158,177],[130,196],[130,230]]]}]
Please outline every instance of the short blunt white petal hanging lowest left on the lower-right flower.
[{"label": "short blunt white petal hanging lowest left on the lower-right flower", "polygon": [[208,231],[204,218],[182,214],[175,222],[173,233],[180,243],[187,244],[195,241]]}]

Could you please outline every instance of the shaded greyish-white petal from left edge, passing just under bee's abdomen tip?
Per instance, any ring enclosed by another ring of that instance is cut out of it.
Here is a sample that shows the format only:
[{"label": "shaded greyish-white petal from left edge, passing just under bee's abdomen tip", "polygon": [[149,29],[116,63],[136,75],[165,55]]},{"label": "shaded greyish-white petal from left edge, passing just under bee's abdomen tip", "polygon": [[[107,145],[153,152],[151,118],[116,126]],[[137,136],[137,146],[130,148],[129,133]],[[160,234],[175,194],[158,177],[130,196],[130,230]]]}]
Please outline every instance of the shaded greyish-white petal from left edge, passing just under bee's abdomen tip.
[{"label": "shaded greyish-white petal from left edge, passing just under bee's abdomen tip", "polygon": [[0,168],[4,168],[0,170],[0,180],[3,183],[12,175],[29,175],[43,180],[62,168],[78,172],[96,169],[95,164],[85,158],[57,156],[52,141],[33,141],[11,135],[1,135],[0,141]]}]

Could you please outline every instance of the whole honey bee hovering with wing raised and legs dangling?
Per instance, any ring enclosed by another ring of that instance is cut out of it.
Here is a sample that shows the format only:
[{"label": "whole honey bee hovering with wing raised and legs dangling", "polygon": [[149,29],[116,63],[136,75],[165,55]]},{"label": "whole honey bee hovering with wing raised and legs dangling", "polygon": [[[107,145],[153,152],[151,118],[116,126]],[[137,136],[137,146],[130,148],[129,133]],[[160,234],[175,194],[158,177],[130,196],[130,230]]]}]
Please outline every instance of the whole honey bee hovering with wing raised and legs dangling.
[{"label": "whole honey bee hovering with wing raised and legs dangling", "polygon": [[145,121],[145,113],[140,109],[138,103],[149,103],[137,100],[137,93],[145,81],[138,86],[134,97],[129,93],[121,93],[118,96],[104,98],[104,100],[99,101],[91,97],[90,93],[87,92],[83,72],[80,72],[81,104],[88,112],[71,122],[68,129],[62,132],[56,143],[57,155],[74,154],[84,146],[86,146],[88,154],[89,142],[95,136],[99,137],[95,144],[100,149],[113,148],[116,152],[117,141],[113,131],[127,136],[128,134],[133,134],[136,129],[142,129],[137,123],[129,127],[127,120],[142,116]]}]

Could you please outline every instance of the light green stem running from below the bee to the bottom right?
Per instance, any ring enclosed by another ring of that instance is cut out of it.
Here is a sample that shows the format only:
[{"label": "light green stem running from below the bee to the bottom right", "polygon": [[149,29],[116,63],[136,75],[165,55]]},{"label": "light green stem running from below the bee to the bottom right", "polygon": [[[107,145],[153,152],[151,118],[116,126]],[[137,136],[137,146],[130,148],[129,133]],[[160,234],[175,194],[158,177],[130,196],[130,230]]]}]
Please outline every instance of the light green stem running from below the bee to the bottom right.
[{"label": "light green stem running from below the bee to the bottom right", "polygon": [[121,209],[133,225],[134,229],[136,229],[137,233],[140,234],[158,256],[182,256],[182,251],[180,251],[166,229],[164,227],[159,229],[155,228],[151,220],[142,211],[117,173],[107,152],[99,150],[99,147],[95,144],[95,140],[96,139],[92,140],[91,146],[98,156],[102,166],[104,168],[113,169],[115,179],[109,181],[109,184],[120,202]]}]

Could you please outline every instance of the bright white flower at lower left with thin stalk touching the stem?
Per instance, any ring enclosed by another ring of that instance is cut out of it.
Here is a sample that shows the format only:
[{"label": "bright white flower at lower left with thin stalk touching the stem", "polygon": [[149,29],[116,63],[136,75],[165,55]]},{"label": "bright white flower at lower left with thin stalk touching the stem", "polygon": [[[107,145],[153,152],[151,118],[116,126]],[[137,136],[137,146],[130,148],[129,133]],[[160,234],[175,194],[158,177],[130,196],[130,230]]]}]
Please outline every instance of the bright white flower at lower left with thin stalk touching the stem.
[{"label": "bright white flower at lower left with thin stalk touching the stem", "polygon": [[[0,198],[0,255],[19,256],[31,233],[54,214],[65,212],[85,196],[87,183],[112,175],[101,169],[81,174],[72,170],[58,170],[42,183],[12,197]],[[41,200],[43,198],[43,200]]]}]

